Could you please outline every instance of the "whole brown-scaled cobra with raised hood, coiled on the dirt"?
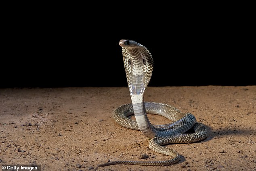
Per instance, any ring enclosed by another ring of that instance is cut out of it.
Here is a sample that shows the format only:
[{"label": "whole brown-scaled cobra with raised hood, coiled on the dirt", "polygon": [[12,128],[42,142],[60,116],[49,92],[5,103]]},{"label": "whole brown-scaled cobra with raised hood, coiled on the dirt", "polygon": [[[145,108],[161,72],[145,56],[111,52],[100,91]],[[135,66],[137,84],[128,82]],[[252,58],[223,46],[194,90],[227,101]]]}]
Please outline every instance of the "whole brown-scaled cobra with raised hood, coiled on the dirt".
[{"label": "whole brown-scaled cobra with raised hood, coiled on the dirt", "polygon": [[[111,161],[99,166],[130,164],[146,166],[163,166],[177,163],[180,155],[175,150],[162,146],[170,143],[192,143],[207,137],[206,127],[198,123],[191,113],[183,113],[173,106],[144,102],[144,93],[153,70],[153,59],[149,50],[133,40],[120,40],[124,67],[132,103],[122,105],[113,111],[115,122],[125,128],[140,130],[143,135],[151,139],[149,148],[155,152],[172,156],[166,161]],[[162,115],[172,120],[170,124],[152,125],[147,113]],[[136,121],[128,116],[134,114]],[[192,134],[184,134],[188,130]]]}]

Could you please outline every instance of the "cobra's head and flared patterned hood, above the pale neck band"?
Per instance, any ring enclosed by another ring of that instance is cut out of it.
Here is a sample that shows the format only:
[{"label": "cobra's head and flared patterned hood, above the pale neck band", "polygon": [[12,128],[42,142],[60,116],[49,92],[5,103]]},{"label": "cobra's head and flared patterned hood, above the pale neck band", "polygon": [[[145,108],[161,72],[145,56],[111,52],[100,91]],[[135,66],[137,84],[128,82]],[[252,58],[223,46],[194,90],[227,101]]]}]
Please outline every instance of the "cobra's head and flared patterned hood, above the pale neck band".
[{"label": "cobra's head and flared patterned hood, above the pale neck band", "polygon": [[124,68],[131,95],[142,95],[153,71],[153,59],[149,50],[133,40],[120,40]]}]

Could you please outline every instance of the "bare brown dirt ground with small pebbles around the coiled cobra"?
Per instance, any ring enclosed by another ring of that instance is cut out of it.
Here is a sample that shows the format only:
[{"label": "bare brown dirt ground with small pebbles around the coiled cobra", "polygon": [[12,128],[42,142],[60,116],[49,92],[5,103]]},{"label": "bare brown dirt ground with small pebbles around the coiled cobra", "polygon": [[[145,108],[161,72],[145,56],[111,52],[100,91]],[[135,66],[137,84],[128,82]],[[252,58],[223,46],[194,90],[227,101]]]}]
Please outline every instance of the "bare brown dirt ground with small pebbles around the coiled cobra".
[{"label": "bare brown dirt ground with small pebbles around the coiled cobra", "polygon": [[[207,126],[208,138],[167,145],[182,155],[174,165],[97,167],[108,160],[170,159],[151,151],[141,132],[113,121],[113,109],[131,103],[127,87],[0,89],[0,165],[38,164],[43,171],[256,170],[256,86],[148,87],[145,101],[193,113]],[[149,158],[139,159],[141,154]]]}]

